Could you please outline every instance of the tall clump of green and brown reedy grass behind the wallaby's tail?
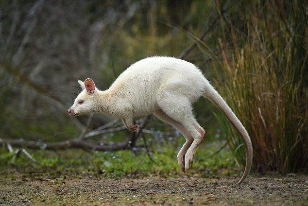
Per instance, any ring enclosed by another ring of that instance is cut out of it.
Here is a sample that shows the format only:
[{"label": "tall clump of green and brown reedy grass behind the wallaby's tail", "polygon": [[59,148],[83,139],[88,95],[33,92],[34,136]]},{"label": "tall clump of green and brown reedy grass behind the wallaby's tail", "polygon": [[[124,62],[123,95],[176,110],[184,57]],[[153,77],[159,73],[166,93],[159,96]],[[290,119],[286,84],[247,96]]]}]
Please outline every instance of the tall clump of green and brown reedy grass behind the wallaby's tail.
[{"label": "tall clump of green and brown reedy grass behind the wallaby's tail", "polygon": [[[268,0],[242,9],[240,21],[224,18],[218,89],[251,137],[255,170],[307,171],[308,7]],[[244,147],[231,130],[230,146],[243,165]]]}]

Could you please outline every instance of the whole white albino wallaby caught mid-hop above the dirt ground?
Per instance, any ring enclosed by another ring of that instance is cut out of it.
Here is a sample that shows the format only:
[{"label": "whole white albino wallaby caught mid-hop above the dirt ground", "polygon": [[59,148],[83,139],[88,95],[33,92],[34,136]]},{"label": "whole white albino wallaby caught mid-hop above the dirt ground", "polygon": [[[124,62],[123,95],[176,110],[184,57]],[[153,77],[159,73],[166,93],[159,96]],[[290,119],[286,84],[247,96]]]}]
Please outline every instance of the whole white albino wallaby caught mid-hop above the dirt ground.
[{"label": "whole white albino wallaby caught mid-hop above the dirt ground", "polygon": [[186,138],[177,155],[183,172],[189,170],[194,152],[205,135],[205,130],[193,116],[191,104],[200,96],[205,96],[222,110],[244,141],[246,167],[238,184],[248,175],[253,158],[250,137],[195,65],[172,57],[149,57],[123,71],[107,90],[100,91],[91,79],[78,82],[83,91],[68,109],[70,116],[102,113],[121,118],[128,130],[137,132],[139,125],[133,123],[133,118],[154,113]]}]

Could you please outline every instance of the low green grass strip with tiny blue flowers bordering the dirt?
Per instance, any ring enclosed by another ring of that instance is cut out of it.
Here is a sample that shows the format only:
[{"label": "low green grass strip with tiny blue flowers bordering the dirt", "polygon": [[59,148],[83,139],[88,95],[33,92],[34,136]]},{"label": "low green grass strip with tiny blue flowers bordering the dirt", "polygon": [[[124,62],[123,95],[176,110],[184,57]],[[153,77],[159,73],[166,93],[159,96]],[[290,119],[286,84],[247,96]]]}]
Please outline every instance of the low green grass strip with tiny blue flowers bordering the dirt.
[{"label": "low green grass strip with tiny blue flowers bordering the dirt", "polygon": [[[179,140],[179,143],[182,140]],[[133,148],[133,150],[108,151],[108,152],[86,152],[79,149],[65,151],[28,150],[28,152],[42,165],[32,164],[24,156],[19,156],[14,165],[12,159],[1,161],[1,172],[3,173],[50,173],[82,174],[106,177],[138,177],[152,175],[182,175],[177,163],[176,154],[178,149],[172,149],[173,145],[165,145],[150,148],[149,158],[144,148]],[[220,142],[206,144],[197,149],[195,160],[190,174],[198,174],[203,177],[215,176],[238,176],[240,172],[235,169],[235,161],[229,149],[223,149],[219,154],[210,158],[220,147]],[[9,155],[6,148],[0,149],[0,158]]]}]

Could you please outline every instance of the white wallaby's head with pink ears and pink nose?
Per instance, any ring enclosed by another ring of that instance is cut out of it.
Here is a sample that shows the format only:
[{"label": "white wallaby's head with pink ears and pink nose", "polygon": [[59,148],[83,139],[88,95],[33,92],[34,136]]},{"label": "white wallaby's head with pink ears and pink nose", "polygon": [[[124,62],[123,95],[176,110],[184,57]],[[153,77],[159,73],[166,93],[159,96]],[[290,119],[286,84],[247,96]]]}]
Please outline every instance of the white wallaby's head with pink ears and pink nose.
[{"label": "white wallaby's head with pink ears and pink nose", "polygon": [[95,108],[94,102],[98,89],[95,87],[93,80],[86,79],[85,82],[78,80],[78,83],[83,91],[80,92],[74,104],[68,109],[68,114],[71,117],[94,112]]}]

